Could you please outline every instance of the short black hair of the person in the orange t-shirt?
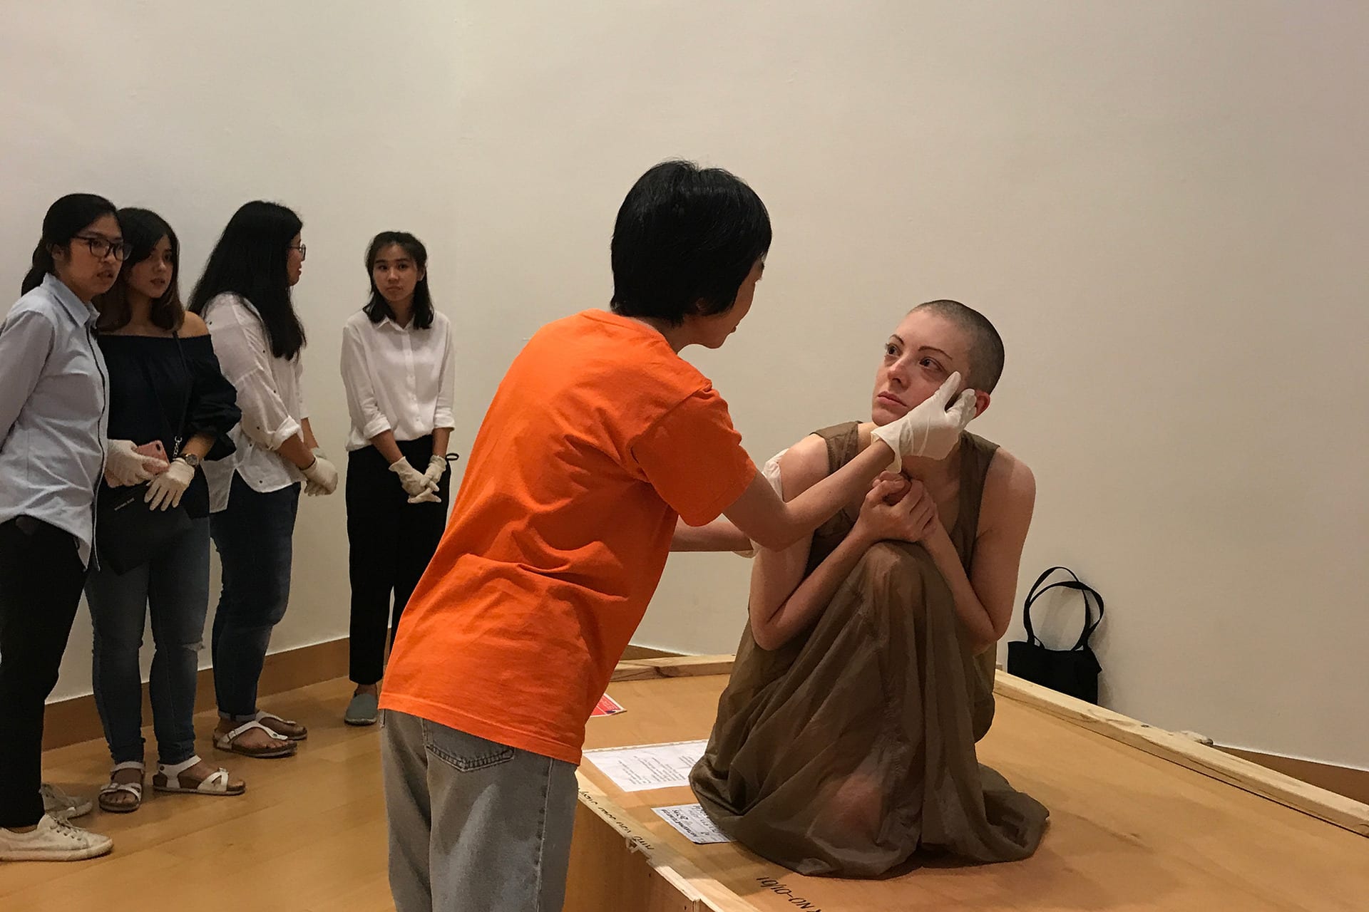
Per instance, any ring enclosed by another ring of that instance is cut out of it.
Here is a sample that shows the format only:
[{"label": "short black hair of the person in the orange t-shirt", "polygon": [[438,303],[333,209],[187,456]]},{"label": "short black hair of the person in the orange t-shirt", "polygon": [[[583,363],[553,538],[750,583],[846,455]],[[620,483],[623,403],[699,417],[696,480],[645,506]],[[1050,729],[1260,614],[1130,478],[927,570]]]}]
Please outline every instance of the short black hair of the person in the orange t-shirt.
[{"label": "short black hair of the person in the orange t-shirt", "polygon": [[671,325],[726,313],[769,245],[769,213],[745,180],[693,161],[663,161],[617,211],[613,313]]}]

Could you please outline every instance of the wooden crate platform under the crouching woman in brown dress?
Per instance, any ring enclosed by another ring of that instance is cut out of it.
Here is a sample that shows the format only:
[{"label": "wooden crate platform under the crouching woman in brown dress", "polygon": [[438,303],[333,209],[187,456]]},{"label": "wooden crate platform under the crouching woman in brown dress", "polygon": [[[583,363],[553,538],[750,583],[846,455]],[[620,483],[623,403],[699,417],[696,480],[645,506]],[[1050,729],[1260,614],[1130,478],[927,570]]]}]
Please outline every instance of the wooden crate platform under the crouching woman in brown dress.
[{"label": "wooden crate platform under the crouching woman in brown dress", "polygon": [[[593,719],[589,747],[706,737],[726,667],[624,663],[609,695],[627,712]],[[567,911],[1369,909],[1369,807],[1009,675],[998,692],[980,759],[1051,809],[1032,859],[804,878],[652,812],[687,788],[623,793],[586,763]]]}]

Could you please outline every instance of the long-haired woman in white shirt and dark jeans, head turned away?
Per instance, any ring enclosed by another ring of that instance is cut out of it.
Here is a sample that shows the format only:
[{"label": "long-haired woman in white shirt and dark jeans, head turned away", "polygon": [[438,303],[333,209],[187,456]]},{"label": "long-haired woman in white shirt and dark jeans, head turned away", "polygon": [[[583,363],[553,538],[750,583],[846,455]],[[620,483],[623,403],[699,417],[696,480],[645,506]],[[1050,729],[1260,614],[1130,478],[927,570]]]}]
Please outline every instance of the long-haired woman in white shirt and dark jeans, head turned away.
[{"label": "long-haired woman in white shirt and dark jeans, head turned away", "polygon": [[214,744],[253,757],[290,756],[307,736],[298,722],[257,710],[257,680],[290,599],[300,487],[324,495],[338,484],[300,388],[304,327],[290,289],[304,267],[301,227],[282,205],[244,204],[190,295],[242,410],[230,435],[237,453],[205,465],[209,535],[223,566],[211,647],[219,701]]}]

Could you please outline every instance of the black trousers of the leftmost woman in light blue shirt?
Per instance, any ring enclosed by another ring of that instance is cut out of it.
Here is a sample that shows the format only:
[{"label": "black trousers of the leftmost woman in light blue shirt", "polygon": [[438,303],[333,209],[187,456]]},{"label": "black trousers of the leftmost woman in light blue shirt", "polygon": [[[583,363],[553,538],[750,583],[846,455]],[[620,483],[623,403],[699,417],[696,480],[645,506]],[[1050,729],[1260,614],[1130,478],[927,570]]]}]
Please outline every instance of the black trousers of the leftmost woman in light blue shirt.
[{"label": "black trousers of the leftmost woman in light blue shirt", "polygon": [[70,532],[31,517],[0,525],[0,827],[42,819],[42,704],[81,604],[86,567]]}]

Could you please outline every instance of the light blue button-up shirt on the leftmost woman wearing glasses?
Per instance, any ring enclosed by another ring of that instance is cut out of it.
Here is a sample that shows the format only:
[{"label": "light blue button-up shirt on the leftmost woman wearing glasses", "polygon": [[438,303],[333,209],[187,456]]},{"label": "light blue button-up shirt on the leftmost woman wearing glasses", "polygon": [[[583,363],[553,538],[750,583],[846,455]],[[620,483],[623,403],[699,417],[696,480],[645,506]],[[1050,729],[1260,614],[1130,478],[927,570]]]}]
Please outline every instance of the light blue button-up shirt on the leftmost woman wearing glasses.
[{"label": "light blue button-up shirt on the leftmost woman wearing glasses", "polygon": [[86,563],[110,427],[97,316],[48,275],[0,324],[0,522],[66,529]]}]

